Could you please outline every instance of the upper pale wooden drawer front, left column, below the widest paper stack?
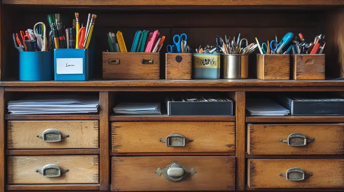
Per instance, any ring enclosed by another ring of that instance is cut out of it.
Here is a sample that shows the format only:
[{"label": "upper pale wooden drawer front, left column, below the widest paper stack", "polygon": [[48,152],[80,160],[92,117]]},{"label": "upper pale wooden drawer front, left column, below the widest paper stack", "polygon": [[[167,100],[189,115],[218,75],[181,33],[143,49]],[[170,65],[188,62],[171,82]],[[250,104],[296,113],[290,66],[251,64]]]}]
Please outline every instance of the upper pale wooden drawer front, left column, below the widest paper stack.
[{"label": "upper pale wooden drawer front, left column, below the widest paper stack", "polygon": [[[8,121],[7,130],[8,149],[99,147],[99,122],[97,120]],[[42,138],[43,136],[44,138]]]}]

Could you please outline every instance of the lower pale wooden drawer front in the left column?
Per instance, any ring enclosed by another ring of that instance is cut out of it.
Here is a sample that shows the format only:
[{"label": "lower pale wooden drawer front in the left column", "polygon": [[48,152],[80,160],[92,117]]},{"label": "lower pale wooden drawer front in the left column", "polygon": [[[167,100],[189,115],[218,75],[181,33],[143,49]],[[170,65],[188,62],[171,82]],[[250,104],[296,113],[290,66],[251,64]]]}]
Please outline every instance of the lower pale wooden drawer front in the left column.
[{"label": "lower pale wooden drawer front in the left column", "polygon": [[8,156],[8,184],[99,183],[98,167],[98,155]]}]

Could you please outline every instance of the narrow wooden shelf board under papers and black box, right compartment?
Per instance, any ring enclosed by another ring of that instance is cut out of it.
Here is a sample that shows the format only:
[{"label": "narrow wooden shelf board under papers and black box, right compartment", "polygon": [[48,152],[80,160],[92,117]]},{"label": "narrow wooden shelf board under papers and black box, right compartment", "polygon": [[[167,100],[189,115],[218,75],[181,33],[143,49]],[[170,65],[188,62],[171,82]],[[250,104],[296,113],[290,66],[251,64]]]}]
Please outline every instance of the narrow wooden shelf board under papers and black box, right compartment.
[{"label": "narrow wooden shelf board under papers and black box, right compartment", "polygon": [[247,116],[246,122],[344,122],[344,116]]}]

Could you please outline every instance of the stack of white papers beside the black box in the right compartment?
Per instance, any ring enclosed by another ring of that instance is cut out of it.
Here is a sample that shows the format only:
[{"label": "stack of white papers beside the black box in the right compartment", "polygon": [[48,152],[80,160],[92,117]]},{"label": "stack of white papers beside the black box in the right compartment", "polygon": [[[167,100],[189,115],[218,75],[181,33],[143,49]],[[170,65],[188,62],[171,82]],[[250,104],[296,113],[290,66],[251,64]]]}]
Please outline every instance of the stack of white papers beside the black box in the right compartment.
[{"label": "stack of white papers beside the black box in the right compartment", "polygon": [[288,115],[290,111],[270,99],[248,99],[246,109],[251,115]]}]

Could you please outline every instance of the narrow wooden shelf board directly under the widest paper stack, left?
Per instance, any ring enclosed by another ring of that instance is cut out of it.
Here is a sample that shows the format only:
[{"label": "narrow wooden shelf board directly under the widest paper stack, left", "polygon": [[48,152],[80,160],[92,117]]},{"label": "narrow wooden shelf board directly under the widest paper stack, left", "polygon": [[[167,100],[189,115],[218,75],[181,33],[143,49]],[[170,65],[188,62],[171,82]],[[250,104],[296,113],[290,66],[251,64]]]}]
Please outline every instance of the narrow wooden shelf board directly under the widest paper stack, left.
[{"label": "narrow wooden shelf board directly under the widest paper stack, left", "polygon": [[6,114],[6,120],[98,120],[99,114],[47,114],[47,115],[13,115]]}]

